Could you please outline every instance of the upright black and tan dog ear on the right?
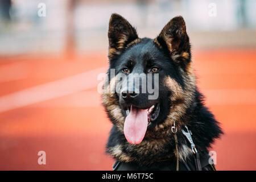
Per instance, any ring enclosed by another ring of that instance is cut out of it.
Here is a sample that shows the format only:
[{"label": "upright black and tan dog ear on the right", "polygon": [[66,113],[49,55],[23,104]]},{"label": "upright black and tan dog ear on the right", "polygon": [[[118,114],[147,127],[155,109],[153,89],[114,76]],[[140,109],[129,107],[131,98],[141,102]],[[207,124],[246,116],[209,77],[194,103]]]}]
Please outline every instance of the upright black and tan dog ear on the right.
[{"label": "upright black and tan dog ear on the right", "polygon": [[185,21],[181,16],[172,18],[164,26],[154,42],[161,48],[167,49],[176,63],[186,64],[190,61],[191,52]]}]

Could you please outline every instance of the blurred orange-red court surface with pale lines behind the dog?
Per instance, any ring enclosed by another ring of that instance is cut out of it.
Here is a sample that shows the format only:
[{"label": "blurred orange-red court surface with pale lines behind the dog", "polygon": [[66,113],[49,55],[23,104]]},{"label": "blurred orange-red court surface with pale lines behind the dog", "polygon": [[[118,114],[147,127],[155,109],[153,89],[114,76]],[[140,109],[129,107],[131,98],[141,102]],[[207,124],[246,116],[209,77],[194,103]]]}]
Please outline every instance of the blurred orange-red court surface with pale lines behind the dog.
[{"label": "blurred orange-red court surface with pale lines behind the dog", "polygon": [[[225,133],[210,149],[218,170],[256,169],[255,51],[193,51],[197,84]],[[112,124],[97,91],[105,52],[0,60],[1,170],[112,170],[105,154]],[[38,164],[42,150],[46,165]]]}]

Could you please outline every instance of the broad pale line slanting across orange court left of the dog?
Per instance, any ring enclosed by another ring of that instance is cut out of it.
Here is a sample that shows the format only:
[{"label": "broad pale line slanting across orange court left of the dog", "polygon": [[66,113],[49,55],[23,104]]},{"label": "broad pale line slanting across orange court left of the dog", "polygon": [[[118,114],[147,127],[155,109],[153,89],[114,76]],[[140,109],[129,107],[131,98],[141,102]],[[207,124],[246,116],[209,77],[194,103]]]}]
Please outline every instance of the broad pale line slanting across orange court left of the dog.
[{"label": "broad pale line slanting across orange court left of the dog", "polygon": [[97,86],[98,74],[105,73],[106,69],[106,67],[93,69],[92,71],[48,82],[47,84],[34,86],[0,97],[0,112],[94,88]]}]

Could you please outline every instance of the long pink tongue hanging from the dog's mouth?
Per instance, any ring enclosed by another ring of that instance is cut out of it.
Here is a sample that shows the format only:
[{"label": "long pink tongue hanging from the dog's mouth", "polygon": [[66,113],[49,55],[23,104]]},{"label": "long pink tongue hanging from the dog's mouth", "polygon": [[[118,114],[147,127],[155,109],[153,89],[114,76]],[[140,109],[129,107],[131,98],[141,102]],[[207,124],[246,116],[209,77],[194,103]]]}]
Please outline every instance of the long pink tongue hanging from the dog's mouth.
[{"label": "long pink tongue hanging from the dog's mouth", "polygon": [[142,142],[147,131],[147,109],[138,109],[131,106],[130,114],[125,118],[123,132],[125,138],[131,144]]}]

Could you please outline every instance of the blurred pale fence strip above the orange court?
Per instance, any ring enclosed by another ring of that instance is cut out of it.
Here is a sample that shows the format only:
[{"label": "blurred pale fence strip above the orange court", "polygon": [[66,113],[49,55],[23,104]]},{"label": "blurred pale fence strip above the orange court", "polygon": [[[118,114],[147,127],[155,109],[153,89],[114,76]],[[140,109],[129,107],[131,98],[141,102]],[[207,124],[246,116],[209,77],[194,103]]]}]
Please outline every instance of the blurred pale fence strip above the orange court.
[{"label": "blurred pale fence strip above the orange court", "polygon": [[152,38],[182,15],[195,47],[254,47],[255,8],[254,0],[1,0],[0,55],[106,51],[112,13],[128,19],[142,37]]}]

